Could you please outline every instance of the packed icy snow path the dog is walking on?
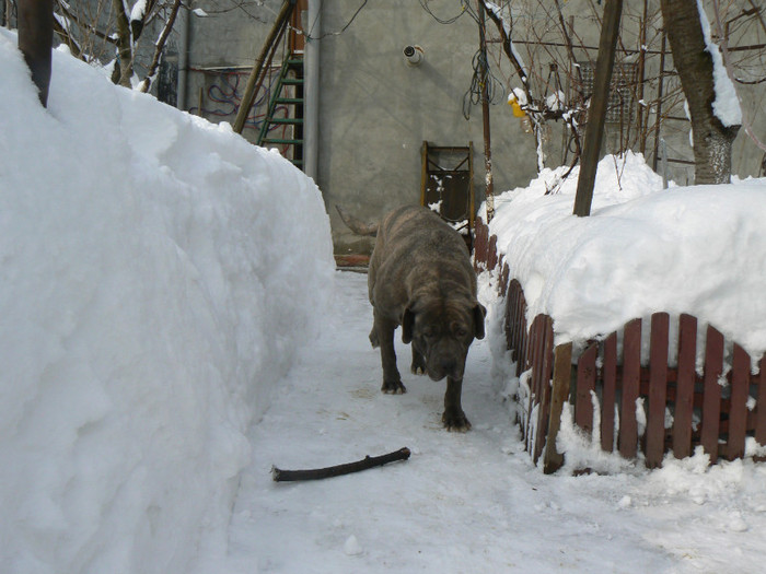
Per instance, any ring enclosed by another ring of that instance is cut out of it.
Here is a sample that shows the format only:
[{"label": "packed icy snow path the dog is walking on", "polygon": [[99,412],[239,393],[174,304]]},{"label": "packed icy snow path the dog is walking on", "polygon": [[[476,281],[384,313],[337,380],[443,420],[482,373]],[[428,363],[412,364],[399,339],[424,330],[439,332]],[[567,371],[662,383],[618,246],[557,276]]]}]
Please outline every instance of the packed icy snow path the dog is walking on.
[{"label": "packed icy snow path the dog is walking on", "polygon": [[[257,561],[260,573],[757,570],[766,497],[742,492],[750,482],[738,482],[741,464],[716,477],[693,468],[546,477],[492,391],[487,341],[474,342],[466,366],[473,430],[448,433],[440,422],[444,383],[409,374],[401,341],[408,393],[380,391],[367,277],[339,272],[336,281],[321,339],[252,431],[254,462],[229,535],[230,558],[243,569]],[[271,481],[271,465],[317,468],[403,446],[413,450],[405,462],[314,482]]]}]

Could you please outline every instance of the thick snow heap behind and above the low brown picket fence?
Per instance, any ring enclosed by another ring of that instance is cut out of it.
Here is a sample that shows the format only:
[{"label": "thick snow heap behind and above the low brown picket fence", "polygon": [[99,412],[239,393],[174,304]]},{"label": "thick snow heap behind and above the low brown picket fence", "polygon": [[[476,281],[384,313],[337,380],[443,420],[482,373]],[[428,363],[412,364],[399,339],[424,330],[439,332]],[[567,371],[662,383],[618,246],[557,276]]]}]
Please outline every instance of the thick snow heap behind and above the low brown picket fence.
[{"label": "thick snow heap behind and above the low brown picket fence", "polygon": [[577,218],[578,169],[561,183],[565,171],[496,198],[489,231],[524,289],[527,319],[550,315],[559,343],[688,313],[753,358],[766,351],[766,179],[662,190],[642,156],[606,156],[592,215]]}]

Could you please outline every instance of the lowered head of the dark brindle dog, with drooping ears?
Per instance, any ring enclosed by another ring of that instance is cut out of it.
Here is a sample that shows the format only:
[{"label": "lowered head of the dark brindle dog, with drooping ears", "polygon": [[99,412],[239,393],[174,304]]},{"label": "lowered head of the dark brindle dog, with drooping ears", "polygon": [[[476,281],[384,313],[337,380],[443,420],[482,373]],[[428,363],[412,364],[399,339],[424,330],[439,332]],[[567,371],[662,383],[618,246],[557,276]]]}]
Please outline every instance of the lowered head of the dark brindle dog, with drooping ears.
[{"label": "lowered head of the dark brindle dog, with drooping ears", "polygon": [[411,303],[402,316],[402,340],[423,356],[431,379],[462,379],[468,347],[484,339],[486,314],[475,297]]}]

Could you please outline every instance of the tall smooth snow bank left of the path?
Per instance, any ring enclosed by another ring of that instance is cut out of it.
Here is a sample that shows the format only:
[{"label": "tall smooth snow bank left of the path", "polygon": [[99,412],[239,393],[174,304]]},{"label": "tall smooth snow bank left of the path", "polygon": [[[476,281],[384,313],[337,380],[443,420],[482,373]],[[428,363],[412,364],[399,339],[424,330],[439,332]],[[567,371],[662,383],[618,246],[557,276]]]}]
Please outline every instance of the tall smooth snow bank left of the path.
[{"label": "tall smooth snow bank left of the path", "polygon": [[[210,571],[245,437],[317,331],[318,190],[0,30],[0,571]],[[200,562],[204,554],[208,563]]]}]

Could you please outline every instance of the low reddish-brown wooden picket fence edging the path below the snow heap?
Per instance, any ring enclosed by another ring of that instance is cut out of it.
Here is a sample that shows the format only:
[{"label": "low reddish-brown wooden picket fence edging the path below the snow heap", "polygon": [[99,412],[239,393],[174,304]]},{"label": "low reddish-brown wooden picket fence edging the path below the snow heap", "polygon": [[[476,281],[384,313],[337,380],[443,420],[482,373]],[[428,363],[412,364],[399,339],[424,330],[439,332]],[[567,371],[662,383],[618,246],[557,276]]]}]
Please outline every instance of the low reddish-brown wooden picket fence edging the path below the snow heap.
[{"label": "low reddish-brown wooden picket fence edging the path below the snow heap", "polygon": [[[538,315],[527,326],[522,286],[517,280],[509,284],[508,266],[498,259],[494,239],[477,222],[476,265],[501,268],[506,340],[517,375],[526,373],[519,422],[527,452],[535,464],[543,456],[545,472],[564,464],[556,437],[566,401],[573,407],[574,423],[603,450],[626,458],[640,450],[650,468],[659,467],[665,453],[683,458],[697,445],[711,462],[744,456],[746,436],[766,445],[766,355],[756,358],[753,372],[755,361],[742,347],[727,342],[712,326],[698,341],[698,319],[681,315],[677,361],[669,361],[675,358],[671,318],[655,313],[649,325],[634,319],[601,341],[588,341],[573,356],[572,343],[554,347],[550,317]],[[645,329],[649,350],[642,362]],[[728,349],[730,365],[724,364]]]}]

